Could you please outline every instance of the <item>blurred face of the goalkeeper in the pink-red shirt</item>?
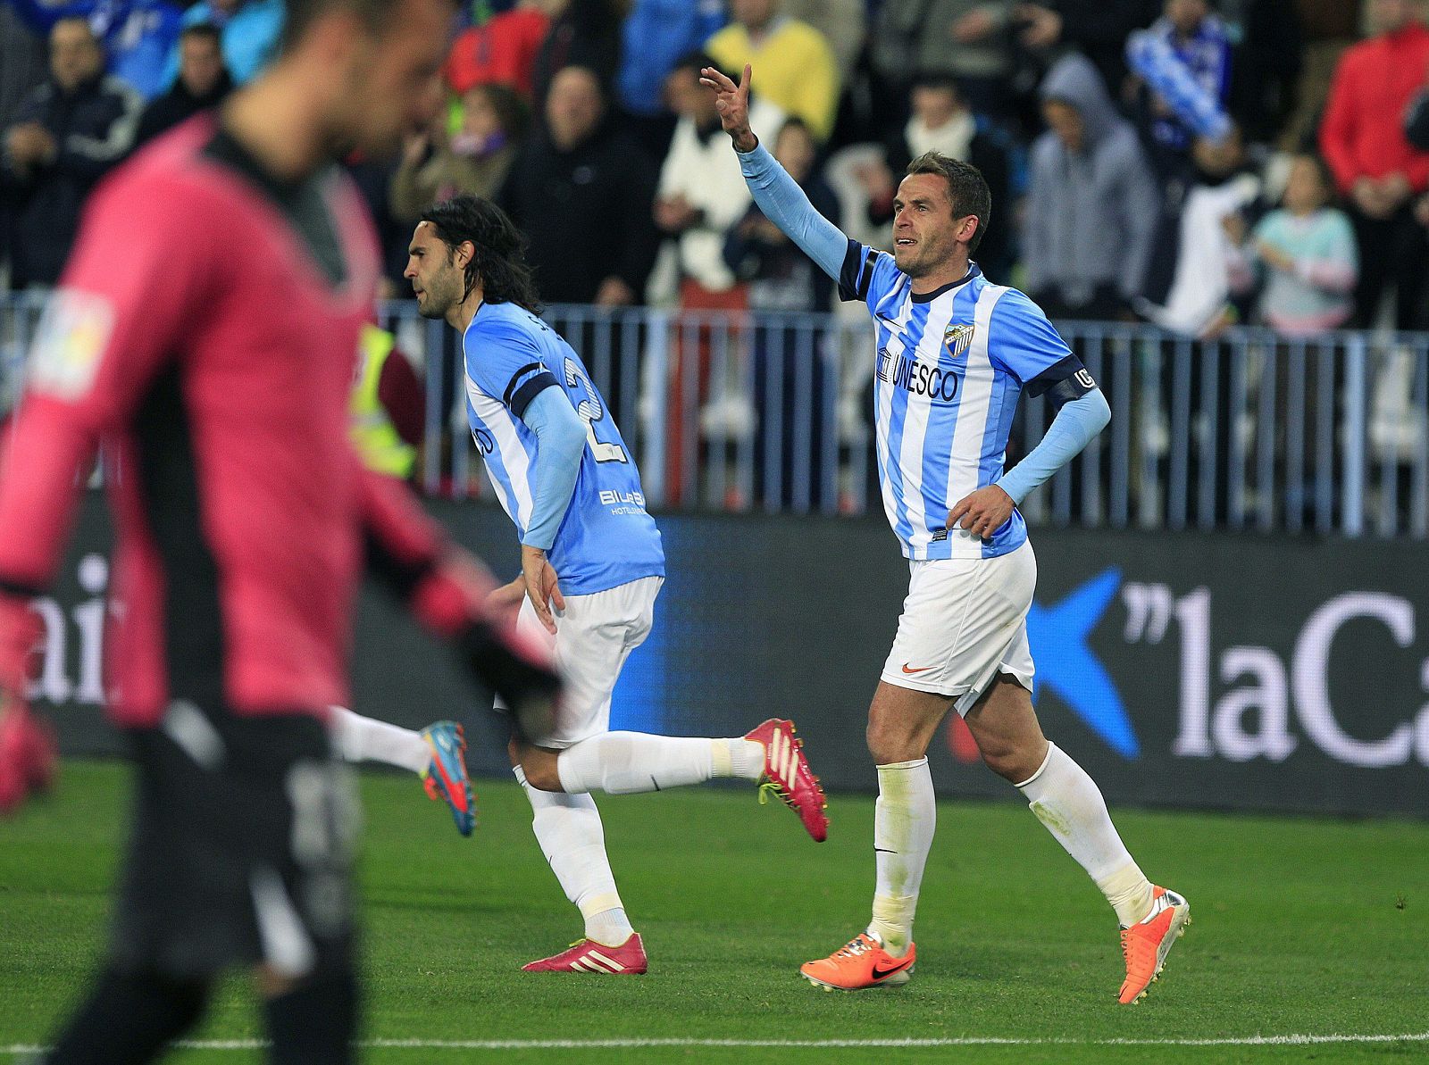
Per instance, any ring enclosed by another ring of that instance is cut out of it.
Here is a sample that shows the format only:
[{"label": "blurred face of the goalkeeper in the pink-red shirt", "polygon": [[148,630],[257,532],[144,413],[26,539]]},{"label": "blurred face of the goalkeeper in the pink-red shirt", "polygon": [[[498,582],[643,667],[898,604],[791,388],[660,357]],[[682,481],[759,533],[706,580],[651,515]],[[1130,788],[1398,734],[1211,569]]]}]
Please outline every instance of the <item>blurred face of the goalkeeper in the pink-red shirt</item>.
[{"label": "blurred face of the goalkeeper in the pink-red shirt", "polygon": [[449,0],[400,0],[389,26],[364,36],[349,67],[344,140],[387,156],[402,136],[426,128],[442,106],[437,71],[447,51]]}]

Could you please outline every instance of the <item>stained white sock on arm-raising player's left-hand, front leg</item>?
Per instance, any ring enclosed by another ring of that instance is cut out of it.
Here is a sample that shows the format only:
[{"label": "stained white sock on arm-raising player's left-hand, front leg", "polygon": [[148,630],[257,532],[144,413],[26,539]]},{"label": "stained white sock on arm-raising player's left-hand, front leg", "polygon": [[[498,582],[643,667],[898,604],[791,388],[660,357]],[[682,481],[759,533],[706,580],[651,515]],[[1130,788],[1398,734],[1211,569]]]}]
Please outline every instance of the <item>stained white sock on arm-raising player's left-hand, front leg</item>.
[{"label": "stained white sock on arm-raising player's left-hand, front leg", "polygon": [[913,911],[923,867],[933,847],[937,805],[927,758],[890,762],[879,769],[879,801],[873,807],[873,858],[877,888],[869,931],[896,958],[913,941]]}]

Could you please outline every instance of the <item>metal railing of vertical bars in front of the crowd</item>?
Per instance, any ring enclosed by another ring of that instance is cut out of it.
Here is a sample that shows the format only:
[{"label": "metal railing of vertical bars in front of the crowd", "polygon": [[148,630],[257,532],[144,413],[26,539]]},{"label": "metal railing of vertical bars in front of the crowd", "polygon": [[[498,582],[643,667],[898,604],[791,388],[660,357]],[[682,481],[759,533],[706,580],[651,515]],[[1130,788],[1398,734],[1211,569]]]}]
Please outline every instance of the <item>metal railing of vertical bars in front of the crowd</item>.
[{"label": "metal railing of vertical bars in front of the crowd", "polygon": [[[40,310],[0,301],[0,413]],[[553,307],[663,508],[862,514],[880,505],[873,331],[856,316]],[[420,485],[490,497],[466,427],[456,334],[380,307],[426,368]],[[1286,340],[1233,328],[1198,341],[1150,327],[1065,323],[1112,424],[1033,493],[1033,524],[1229,528],[1429,538],[1429,334]],[[479,353],[477,353],[477,357]],[[1009,464],[1052,411],[1025,398]]]}]

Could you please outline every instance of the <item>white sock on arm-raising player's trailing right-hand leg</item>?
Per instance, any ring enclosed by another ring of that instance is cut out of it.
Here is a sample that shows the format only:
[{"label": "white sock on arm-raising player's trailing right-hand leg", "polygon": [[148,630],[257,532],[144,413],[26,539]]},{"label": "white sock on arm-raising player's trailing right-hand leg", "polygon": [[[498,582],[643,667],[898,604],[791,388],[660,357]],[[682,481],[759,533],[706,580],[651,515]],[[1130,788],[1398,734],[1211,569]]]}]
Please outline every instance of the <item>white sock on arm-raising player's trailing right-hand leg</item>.
[{"label": "white sock on arm-raising player's trailing right-hand leg", "polygon": [[1106,799],[1086,769],[1049,744],[1042,768],[1017,787],[1037,819],[1096,881],[1122,925],[1152,912],[1152,884],[1116,834]]}]

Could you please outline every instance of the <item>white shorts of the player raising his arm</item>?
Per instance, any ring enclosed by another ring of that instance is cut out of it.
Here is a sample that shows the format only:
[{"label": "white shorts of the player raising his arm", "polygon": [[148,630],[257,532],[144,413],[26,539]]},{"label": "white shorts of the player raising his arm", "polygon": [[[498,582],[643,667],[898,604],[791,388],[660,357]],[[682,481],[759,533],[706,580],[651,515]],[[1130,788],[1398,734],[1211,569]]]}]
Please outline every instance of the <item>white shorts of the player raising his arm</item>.
[{"label": "white shorts of the player raising his arm", "polygon": [[999,672],[1032,691],[1027,610],[1037,557],[1030,542],[996,558],[915,561],[909,572],[885,681],[947,695],[965,715]]}]

